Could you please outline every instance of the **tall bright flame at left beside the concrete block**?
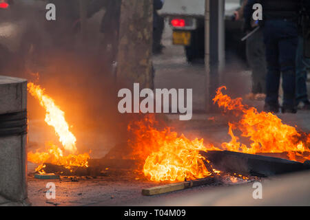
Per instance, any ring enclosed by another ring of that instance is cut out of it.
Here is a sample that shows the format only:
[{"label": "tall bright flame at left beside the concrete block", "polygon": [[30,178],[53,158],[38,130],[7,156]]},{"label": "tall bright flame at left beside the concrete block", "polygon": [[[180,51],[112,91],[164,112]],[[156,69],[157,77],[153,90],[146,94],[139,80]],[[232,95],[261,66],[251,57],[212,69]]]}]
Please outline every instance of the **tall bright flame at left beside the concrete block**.
[{"label": "tall bright flame at left beside the concrete block", "polygon": [[65,120],[65,113],[59,109],[54,103],[54,100],[45,94],[45,90],[39,85],[28,83],[29,93],[37,98],[41,106],[45,109],[45,122],[54,128],[56,135],[59,137],[63,150],[50,142],[45,146],[45,151],[36,153],[28,153],[28,161],[35,164],[40,164],[37,171],[44,173],[44,163],[62,165],[66,168],[71,166],[86,166],[87,159],[90,155],[87,153],[77,154],[76,137],[69,130],[69,125]]}]

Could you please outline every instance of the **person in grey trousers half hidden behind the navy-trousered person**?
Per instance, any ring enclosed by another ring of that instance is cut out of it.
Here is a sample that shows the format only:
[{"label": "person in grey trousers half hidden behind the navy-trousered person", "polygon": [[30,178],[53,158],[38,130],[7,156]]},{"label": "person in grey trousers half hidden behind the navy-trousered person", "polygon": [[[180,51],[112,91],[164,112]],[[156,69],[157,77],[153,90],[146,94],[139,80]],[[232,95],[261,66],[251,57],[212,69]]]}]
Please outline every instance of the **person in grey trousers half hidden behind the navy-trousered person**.
[{"label": "person in grey trousers half hidden behind the navy-trousered person", "polygon": [[[245,19],[244,32],[249,33],[258,27],[252,19],[252,10],[245,8],[248,1],[242,2],[241,8],[235,12],[235,19],[238,21]],[[264,100],[266,97],[266,74],[267,63],[265,57],[265,45],[263,41],[262,29],[255,32],[246,41],[247,61],[251,67],[251,93],[246,97],[253,100]]]}]

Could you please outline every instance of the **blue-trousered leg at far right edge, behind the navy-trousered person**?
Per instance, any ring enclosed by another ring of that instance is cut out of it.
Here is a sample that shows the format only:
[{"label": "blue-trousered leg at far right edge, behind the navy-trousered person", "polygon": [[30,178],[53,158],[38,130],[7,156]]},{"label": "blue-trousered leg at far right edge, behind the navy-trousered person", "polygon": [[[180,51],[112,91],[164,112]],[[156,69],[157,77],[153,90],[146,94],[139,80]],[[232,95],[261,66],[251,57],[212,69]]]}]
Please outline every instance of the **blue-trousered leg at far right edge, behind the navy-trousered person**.
[{"label": "blue-trousered leg at far right edge, behind the navy-trousered person", "polygon": [[300,102],[309,102],[307,94],[307,65],[303,54],[303,38],[298,36],[296,54],[296,106]]}]

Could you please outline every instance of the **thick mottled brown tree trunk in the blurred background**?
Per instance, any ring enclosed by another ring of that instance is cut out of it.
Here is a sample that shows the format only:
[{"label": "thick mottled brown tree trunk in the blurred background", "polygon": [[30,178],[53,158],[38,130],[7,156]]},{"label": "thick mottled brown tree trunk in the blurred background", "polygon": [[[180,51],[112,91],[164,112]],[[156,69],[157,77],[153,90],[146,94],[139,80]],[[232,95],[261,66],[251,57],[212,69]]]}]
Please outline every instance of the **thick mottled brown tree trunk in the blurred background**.
[{"label": "thick mottled brown tree trunk in the blurred background", "polygon": [[121,5],[116,77],[118,83],[153,88],[153,0],[125,0]]}]

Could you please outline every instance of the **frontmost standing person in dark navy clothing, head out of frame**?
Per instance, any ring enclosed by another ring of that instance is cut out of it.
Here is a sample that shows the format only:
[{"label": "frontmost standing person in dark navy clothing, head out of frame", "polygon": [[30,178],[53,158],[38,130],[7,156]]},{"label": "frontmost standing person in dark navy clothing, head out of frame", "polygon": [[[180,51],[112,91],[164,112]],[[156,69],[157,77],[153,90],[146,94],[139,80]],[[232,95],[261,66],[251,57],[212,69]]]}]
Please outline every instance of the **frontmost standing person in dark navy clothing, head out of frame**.
[{"label": "frontmost standing person in dark navy clothing, head out of frame", "polygon": [[296,113],[296,53],[298,46],[298,17],[301,0],[249,0],[262,5],[267,77],[265,111],[278,113],[280,76],[282,73],[282,113]]}]

